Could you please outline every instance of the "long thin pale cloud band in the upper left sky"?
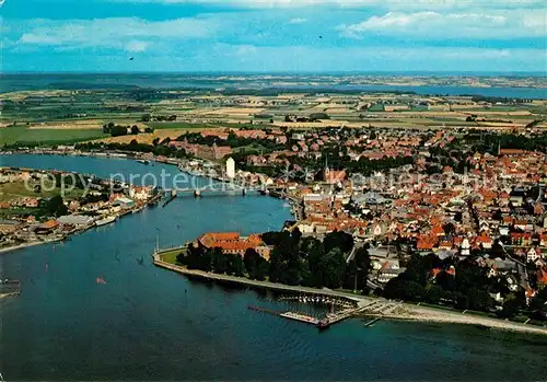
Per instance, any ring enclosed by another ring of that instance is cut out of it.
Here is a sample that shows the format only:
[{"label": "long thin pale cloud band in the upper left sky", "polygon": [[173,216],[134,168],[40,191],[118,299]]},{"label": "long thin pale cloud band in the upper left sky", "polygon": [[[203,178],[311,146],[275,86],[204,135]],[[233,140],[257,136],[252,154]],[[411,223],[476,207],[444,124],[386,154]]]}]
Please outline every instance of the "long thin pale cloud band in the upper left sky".
[{"label": "long thin pale cloud band in the upper left sky", "polygon": [[142,51],[162,39],[205,38],[219,30],[213,18],[147,21],[132,18],[95,20],[33,20],[24,27],[19,42],[26,45],[51,45],[65,48],[110,47]]}]

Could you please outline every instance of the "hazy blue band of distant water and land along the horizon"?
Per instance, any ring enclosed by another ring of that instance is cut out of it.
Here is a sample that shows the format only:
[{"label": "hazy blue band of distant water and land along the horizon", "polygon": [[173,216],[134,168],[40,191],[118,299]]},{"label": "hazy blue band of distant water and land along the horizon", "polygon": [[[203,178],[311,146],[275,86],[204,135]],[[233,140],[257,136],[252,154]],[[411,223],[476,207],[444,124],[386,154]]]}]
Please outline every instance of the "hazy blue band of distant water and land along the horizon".
[{"label": "hazy blue band of distant water and land along the horizon", "polygon": [[[384,73],[385,76],[385,73]],[[0,77],[2,92],[38,89],[282,89],[307,92],[328,90],[354,92],[415,92],[421,95],[485,95],[510,99],[547,99],[545,88],[474,88],[474,86],[403,86],[376,84],[299,84],[298,77],[272,77],[270,80],[255,76],[235,78],[212,74],[4,74]]]}]

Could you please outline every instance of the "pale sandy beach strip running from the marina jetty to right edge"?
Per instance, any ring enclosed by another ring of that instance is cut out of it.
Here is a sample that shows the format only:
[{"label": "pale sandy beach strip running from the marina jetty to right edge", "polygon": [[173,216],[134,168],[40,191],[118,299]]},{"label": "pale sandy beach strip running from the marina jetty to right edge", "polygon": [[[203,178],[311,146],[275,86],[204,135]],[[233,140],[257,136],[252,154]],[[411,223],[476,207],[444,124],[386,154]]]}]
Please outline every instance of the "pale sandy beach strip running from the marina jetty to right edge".
[{"label": "pale sandy beach strip running from the marina jetty to right edge", "polygon": [[391,314],[377,315],[393,320],[408,320],[418,322],[432,322],[441,324],[463,324],[478,325],[501,331],[513,331],[521,333],[535,333],[547,335],[547,327],[521,324],[508,320],[491,319],[474,314],[465,314],[461,312],[451,312],[441,309],[419,306],[414,304],[401,304],[396,311]]}]

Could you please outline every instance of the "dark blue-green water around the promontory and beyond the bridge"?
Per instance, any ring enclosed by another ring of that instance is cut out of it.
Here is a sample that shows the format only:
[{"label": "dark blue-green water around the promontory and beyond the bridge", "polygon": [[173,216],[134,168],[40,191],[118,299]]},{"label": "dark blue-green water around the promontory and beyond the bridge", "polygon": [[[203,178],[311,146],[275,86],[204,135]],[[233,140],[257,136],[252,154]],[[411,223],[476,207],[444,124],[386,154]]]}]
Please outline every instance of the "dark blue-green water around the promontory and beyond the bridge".
[{"label": "dark blue-green water around the promontory and beyond the bridge", "polygon": [[[72,157],[0,155],[0,163],[103,177],[177,172]],[[247,310],[279,308],[268,293],[190,281],[151,264],[156,228],[167,246],[207,231],[279,229],[288,218],[269,197],[177,198],[63,244],[0,255],[0,277],[23,282],[20,298],[0,301],[0,372],[5,381],[545,380],[544,337],[396,322],[365,328],[360,320],[318,333]]]}]

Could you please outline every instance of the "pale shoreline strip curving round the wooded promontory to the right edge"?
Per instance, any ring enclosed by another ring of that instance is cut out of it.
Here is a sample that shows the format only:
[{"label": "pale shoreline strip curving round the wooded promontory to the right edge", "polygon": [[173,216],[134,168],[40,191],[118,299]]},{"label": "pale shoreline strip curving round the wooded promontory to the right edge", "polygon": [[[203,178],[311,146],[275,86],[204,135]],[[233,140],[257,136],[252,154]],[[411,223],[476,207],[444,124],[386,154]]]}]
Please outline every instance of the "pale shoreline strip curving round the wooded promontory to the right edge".
[{"label": "pale shoreline strip curving round the wooded promontory to the right edge", "polygon": [[[170,248],[163,252],[175,251],[175,248]],[[182,250],[182,247],[181,247]],[[369,296],[359,296],[352,294],[349,292],[336,291],[330,289],[316,289],[310,287],[301,287],[301,286],[289,286],[278,282],[269,282],[269,281],[259,281],[253,280],[244,277],[237,276],[229,276],[221,274],[207,273],[199,269],[188,269],[187,267],[170,264],[163,262],[161,259],[162,251],[155,252],[153,254],[153,264],[160,268],[164,268],[171,271],[175,271],[188,277],[199,277],[206,280],[212,281],[228,281],[234,282],[242,286],[270,289],[270,290],[281,290],[281,291],[292,291],[292,292],[305,292],[305,293],[314,293],[329,297],[340,297],[351,299],[357,301],[358,303],[366,303],[376,300],[381,300],[380,298],[369,297]],[[366,314],[359,313],[353,317],[380,317],[384,320],[393,320],[393,321],[414,321],[414,322],[422,322],[422,323],[438,323],[438,324],[462,324],[462,325],[475,325],[481,326],[485,328],[491,329],[500,329],[507,332],[520,332],[520,333],[532,333],[539,335],[547,335],[547,327],[545,326],[535,326],[528,324],[516,323],[507,320],[500,319],[491,319],[473,314],[464,314],[459,312],[451,312],[443,311],[435,308],[427,308],[414,305],[408,302],[404,302],[400,304],[400,309],[403,312],[398,313],[388,313],[388,314]]]}]

